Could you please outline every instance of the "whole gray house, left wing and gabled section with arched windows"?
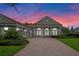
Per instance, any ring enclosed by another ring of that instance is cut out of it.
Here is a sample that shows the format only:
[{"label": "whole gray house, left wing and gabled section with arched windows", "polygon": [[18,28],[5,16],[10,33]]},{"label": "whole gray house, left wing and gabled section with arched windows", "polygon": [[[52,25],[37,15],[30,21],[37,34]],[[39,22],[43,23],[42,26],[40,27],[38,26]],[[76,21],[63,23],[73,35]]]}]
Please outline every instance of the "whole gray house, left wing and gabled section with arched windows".
[{"label": "whole gray house, left wing and gabled section with arched windows", "polygon": [[22,24],[0,14],[0,34],[5,34],[10,28],[15,28],[24,37],[32,36],[57,36],[61,34],[62,25],[54,19],[46,16],[35,24]]}]

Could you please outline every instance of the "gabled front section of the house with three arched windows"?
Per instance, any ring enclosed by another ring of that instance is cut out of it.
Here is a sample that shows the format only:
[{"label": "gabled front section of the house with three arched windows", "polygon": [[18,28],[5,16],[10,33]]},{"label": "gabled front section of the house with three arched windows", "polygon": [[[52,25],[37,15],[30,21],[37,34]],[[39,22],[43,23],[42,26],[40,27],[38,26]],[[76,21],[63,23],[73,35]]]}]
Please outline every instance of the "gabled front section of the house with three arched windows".
[{"label": "gabled front section of the house with three arched windows", "polygon": [[61,34],[62,24],[58,23],[49,16],[31,25],[32,36],[50,37]]}]

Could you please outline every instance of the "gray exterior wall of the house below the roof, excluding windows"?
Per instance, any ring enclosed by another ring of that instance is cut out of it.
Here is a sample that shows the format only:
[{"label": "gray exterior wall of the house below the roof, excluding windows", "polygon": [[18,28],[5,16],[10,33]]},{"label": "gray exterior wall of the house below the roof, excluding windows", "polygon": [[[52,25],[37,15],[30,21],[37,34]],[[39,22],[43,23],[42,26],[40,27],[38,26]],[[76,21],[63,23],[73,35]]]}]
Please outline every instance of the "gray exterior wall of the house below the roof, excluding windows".
[{"label": "gray exterior wall of the house below the roof, excluding windows", "polygon": [[[8,27],[7,25],[4,26],[4,27]],[[4,34],[4,27],[0,27],[0,34]],[[17,28],[18,26],[9,26],[9,28]],[[37,28],[41,28],[41,31],[42,31],[42,35],[41,37],[44,37],[45,36],[45,28],[44,27],[32,27],[32,28],[21,28],[21,27],[18,27],[21,31],[18,31],[21,35],[23,35],[24,37],[37,37]],[[49,28],[49,37],[53,35],[52,33],[52,29],[53,28],[56,28],[56,27],[50,27]],[[25,32],[25,30],[27,30]],[[58,28],[58,35],[61,34],[61,27]]]}]

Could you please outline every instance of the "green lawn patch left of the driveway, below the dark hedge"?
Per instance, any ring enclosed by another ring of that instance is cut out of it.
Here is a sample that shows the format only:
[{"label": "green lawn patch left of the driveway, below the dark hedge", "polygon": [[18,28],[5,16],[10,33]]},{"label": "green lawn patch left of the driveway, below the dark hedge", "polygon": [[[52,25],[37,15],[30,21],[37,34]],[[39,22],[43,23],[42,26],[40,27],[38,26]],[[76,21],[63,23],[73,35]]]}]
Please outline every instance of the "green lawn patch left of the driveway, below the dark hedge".
[{"label": "green lawn patch left of the driveway, below the dark hedge", "polygon": [[0,46],[0,56],[12,56],[25,46]]}]

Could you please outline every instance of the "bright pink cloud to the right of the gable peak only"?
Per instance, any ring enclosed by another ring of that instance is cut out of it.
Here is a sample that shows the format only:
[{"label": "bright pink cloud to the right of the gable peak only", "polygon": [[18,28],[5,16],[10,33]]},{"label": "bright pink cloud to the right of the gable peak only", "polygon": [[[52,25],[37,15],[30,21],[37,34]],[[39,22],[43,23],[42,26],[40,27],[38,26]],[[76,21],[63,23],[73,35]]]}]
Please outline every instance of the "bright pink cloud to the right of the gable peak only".
[{"label": "bright pink cloud to the right of the gable peak only", "polygon": [[65,15],[61,16],[54,16],[55,20],[63,24],[64,26],[69,25],[76,25],[79,24],[79,15]]}]

